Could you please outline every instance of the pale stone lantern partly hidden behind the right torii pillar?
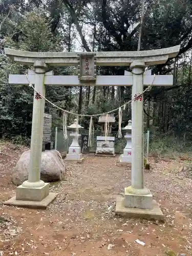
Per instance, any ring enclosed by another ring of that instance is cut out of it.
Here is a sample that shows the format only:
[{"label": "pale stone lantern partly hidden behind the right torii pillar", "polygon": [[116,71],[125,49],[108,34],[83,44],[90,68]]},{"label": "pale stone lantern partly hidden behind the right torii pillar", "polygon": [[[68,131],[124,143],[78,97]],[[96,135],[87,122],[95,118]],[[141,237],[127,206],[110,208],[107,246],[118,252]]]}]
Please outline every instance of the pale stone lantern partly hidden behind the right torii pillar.
[{"label": "pale stone lantern partly hidden behind the right torii pillar", "polygon": [[128,124],[122,128],[122,130],[126,131],[126,135],[124,138],[126,139],[126,146],[123,150],[123,154],[119,157],[120,163],[125,163],[127,165],[131,165],[132,163],[132,121],[129,120]]}]

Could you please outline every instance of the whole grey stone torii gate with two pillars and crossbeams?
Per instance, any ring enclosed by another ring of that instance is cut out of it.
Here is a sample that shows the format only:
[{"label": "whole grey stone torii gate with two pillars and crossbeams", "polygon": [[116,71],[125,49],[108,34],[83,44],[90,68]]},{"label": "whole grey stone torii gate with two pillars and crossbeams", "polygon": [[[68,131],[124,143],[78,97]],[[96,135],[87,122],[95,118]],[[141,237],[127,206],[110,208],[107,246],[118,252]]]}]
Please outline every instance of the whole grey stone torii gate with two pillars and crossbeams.
[{"label": "whole grey stone torii gate with two pillars and crossbeams", "polygon": [[[117,214],[162,219],[158,204],[153,200],[143,181],[143,85],[151,85],[154,77],[144,72],[146,66],[166,63],[176,57],[180,46],[137,52],[25,52],[5,49],[13,61],[33,66],[26,75],[9,75],[11,84],[34,84],[35,90],[45,96],[46,85],[52,86],[132,86],[132,182],[125,188],[125,196],[117,198]],[[78,76],[54,76],[48,66],[76,66]],[[124,76],[96,76],[96,66],[130,66],[132,72]],[[171,86],[172,75],[156,76],[154,86]],[[42,127],[45,100],[34,92],[31,132],[31,152],[28,180],[16,188],[16,198],[6,204],[46,207],[55,194],[49,194],[49,184],[40,180]]]}]

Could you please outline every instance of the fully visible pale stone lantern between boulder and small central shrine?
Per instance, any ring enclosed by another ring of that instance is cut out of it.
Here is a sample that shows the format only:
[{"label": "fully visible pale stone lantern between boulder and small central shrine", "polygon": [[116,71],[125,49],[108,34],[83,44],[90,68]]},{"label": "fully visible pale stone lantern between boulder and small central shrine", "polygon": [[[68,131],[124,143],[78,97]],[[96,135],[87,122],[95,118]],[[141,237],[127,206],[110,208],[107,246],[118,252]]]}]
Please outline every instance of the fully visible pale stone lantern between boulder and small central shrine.
[{"label": "fully visible pale stone lantern between boulder and small central shrine", "polygon": [[81,148],[79,146],[79,137],[81,136],[80,134],[76,133],[76,130],[78,129],[82,129],[83,127],[81,127],[81,125],[77,125],[77,119],[74,120],[74,123],[71,124],[70,126],[68,126],[68,129],[71,130],[71,134],[69,135],[70,137],[72,137],[73,141],[71,143],[71,146],[69,147],[69,153],[66,156],[66,160],[70,160],[70,161],[77,161],[77,162],[82,162],[83,157],[81,154]]}]

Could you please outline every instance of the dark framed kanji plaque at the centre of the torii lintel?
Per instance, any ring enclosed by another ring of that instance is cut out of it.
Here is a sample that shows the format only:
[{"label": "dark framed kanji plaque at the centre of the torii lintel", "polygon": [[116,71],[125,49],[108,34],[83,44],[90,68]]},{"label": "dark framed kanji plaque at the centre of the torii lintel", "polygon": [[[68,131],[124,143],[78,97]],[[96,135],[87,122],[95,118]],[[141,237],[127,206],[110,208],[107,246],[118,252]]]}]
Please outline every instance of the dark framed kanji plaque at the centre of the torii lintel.
[{"label": "dark framed kanji plaque at the centre of the torii lintel", "polygon": [[95,53],[81,53],[78,58],[79,80],[96,80],[96,56]]}]

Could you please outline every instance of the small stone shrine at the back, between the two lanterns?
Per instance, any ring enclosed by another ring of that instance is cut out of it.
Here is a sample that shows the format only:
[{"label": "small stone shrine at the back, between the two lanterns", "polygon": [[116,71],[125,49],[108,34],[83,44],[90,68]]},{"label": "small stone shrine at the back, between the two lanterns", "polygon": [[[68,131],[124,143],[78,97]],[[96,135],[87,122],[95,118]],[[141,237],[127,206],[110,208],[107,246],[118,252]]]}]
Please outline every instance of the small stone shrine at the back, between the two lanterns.
[{"label": "small stone shrine at the back, between the two lanterns", "polygon": [[[108,136],[105,137],[105,122],[109,123]],[[111,137],[112,123],[115,122],[114,115],[102,115],[98,123],[102,124],[102,136],[97,136],[96,156],[115,156],[115,137]]]}]

